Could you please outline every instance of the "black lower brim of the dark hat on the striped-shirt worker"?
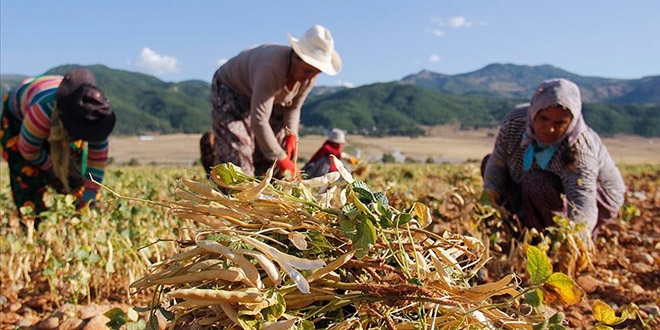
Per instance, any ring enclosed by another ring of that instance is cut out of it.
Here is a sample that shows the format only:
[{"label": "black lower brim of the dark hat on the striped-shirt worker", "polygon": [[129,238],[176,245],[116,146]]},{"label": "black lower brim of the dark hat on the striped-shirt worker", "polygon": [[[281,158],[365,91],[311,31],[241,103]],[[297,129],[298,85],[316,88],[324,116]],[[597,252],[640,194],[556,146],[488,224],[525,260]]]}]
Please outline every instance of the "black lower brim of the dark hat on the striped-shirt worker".
[{"label": "black lower brim of the dark hat on the striped-shirt worker", "polygon": [[106,140],[117,122],[114,112],[95,121],[90,121],[80,116],[67,116],[65,113],[61,113],[60,115],[62,116],[64,129],[66,129],[71,137],[76,140],[90,142]]}]

